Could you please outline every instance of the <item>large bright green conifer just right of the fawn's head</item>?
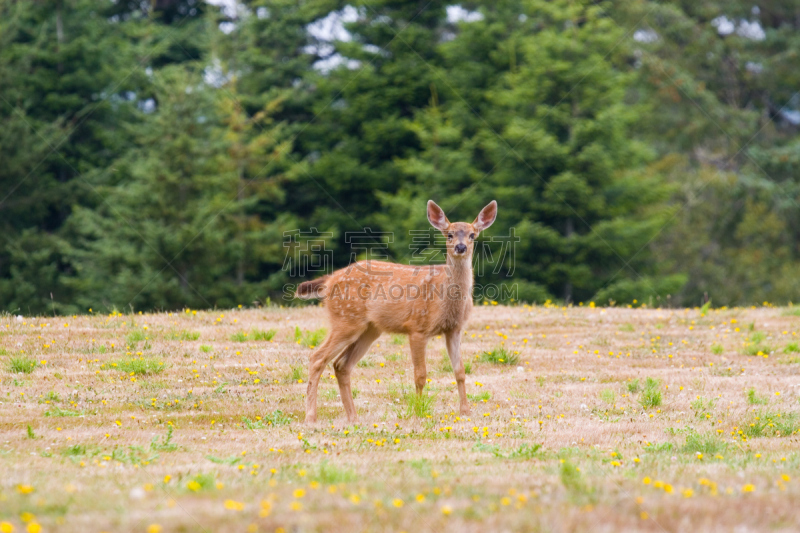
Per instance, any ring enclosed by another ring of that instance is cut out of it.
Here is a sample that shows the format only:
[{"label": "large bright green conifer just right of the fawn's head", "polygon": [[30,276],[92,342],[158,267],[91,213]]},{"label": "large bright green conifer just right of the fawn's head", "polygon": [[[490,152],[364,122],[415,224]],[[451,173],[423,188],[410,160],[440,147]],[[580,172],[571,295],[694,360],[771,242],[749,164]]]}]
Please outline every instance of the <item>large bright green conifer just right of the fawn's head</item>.
[{"label": "large bright green conifer just right of the fawn's head", "polygon": [[411,126],[423,150],[399,161],[416,181],[411,202],[399,203],[433,195],[468,215],[496,198],[503,230],[490,235],[513,228],[520,242],[486,281],[516,281],[524,300],[629,301],[680,288],[680,277],[653,277],[640,253],[665,221],[656,207],[665,191],[631,135],[638,109],[625,101],[620,30],[588,2],[481,13],[441,45],[448,61]]}]

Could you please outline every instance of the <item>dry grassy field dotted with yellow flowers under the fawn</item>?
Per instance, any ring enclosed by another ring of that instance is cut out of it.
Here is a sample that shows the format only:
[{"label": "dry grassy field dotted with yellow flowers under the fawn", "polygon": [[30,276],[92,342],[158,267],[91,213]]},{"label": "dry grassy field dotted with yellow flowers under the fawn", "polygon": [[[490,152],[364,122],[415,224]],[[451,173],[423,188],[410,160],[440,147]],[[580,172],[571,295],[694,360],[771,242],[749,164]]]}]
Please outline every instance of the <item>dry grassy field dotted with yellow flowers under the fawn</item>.
[{"label": "dry grassy field dotted with yellow flowers under the fawn", "polygon": [[[800,309],[475,309],[456,414],[318,307],[0,318],[0,531],[796,531]],[[738,526],[742,526],[737,529]]]}]

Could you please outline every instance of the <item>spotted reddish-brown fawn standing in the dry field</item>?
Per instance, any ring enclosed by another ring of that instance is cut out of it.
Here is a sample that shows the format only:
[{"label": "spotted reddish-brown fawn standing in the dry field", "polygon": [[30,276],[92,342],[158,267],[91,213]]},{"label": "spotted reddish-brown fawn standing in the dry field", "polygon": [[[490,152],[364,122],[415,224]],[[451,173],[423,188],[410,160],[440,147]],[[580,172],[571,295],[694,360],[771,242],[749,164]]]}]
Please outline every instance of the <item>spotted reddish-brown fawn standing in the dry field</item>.
[{"label": "spotted reddish-brown fawn standing in the dry field", "polygon": [[428,221],[447,238],[444,265],[412,266],[359,261],[347,268],[301,283],[295,296],[321,298],[330,333],[311,354],[306,394],[306,422],[317,419],[317,387],[325,366],[333,362],[348,422],[357,419],[350,373],[381,333],[408,335],[417,394],[425,387],[425,345],[444,334],[453,365],[461,414],[469,414],[466,374],[461,361],[461,332],[472,310],[472,250],[478,233],[497,217],[497,202],[484,207],[472,224],[451,223],[428,201]]}]

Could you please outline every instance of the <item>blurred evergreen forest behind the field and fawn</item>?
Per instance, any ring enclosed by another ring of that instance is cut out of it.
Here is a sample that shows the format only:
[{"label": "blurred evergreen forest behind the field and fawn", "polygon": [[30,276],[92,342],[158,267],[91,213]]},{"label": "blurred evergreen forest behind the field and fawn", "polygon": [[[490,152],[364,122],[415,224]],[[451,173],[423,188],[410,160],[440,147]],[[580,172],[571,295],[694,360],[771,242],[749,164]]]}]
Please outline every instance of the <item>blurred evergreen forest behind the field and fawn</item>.
[{"label": "blurred evergreen forest behind the field and fawn", "polygon": [[797,302],[798,66],[793,0],[0,0],[0,304],[287,303],[429,198],[505,301]]}]

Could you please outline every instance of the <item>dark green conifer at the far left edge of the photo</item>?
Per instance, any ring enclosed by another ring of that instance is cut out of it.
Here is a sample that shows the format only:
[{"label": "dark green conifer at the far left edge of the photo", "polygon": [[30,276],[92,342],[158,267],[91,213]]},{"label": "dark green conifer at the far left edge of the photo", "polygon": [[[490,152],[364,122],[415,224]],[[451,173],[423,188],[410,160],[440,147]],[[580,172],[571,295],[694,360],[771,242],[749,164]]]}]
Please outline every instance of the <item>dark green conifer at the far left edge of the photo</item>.
[{"label": "dark green conifer at the far left edge of the photo", "polygon": [[60,229],[96,199],[84,176],[125,144],[133,47],[95,2],[0,2],[0,300],[70,312]]}]

